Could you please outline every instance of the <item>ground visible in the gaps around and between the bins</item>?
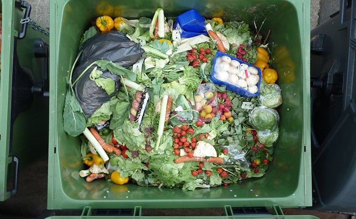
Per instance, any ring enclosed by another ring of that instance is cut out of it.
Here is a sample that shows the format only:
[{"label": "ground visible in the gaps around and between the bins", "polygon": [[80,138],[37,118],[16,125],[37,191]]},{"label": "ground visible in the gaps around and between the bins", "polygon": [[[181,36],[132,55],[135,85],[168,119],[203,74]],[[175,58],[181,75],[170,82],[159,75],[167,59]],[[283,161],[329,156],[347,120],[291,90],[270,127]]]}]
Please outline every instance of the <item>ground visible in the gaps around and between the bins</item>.
[{"label": "ground visible in the gaps around and between the bins", "polygon": [[[32,5],[32,18],[46,27],[49,27],[49,0],[27,0]],[[311,29],[328,19],[339,9],[338,0],[311,0]],[[20,170],[18,193],[0,202],[0,218],[20,219],[24,217],[36,218],[43,214],[50,215],[52,212],[47,209],[47,157],[43,157],[36,163]],[[314,215],[320,219],[351,219],[352,216],[328,212],[308,211],[302,209],[283,209],[285,215]],[[204,212],[206,216],[221,216],[222,209],[195,209],[190,213],[177,213],[178,215],[189,214],[196,216],[199,212]],[[146,210],[145,215],[168,214],[167,210]],[[66,212],[65,214],[75,214],[77,212]],[[63,212],[57,212],[63,214]],[[11,216],[10,216],[11,215]]]}]

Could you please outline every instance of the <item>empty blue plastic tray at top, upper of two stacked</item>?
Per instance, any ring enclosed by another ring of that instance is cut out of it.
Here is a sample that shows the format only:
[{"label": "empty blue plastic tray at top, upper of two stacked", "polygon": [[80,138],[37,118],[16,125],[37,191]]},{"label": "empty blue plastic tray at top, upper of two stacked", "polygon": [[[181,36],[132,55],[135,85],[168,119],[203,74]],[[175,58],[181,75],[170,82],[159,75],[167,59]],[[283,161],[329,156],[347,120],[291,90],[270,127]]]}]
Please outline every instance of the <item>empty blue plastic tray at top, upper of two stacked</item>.
[{"label": "empty blue plastic tray at top, upper of two stacked", "polygon": [[187,32],[202,32],[205,31],[205,18],[195,9],[179,15],[177,21],[180,26]]}]

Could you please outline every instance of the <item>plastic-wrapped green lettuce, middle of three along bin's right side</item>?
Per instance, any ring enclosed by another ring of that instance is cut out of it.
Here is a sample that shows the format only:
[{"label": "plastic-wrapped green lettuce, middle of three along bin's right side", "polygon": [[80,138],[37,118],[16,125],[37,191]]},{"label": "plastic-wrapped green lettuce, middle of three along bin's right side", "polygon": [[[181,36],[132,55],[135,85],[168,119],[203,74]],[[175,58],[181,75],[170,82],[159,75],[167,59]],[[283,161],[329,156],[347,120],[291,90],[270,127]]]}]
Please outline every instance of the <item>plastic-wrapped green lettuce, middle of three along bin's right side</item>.
[{"label": "plastic-wrapped green lettuce, middle of three along bin's right side", "polygon": [[248,121],[258,131],[272,131],[280,122],[280,115],[276,110],[261,106],[251,110]]}]

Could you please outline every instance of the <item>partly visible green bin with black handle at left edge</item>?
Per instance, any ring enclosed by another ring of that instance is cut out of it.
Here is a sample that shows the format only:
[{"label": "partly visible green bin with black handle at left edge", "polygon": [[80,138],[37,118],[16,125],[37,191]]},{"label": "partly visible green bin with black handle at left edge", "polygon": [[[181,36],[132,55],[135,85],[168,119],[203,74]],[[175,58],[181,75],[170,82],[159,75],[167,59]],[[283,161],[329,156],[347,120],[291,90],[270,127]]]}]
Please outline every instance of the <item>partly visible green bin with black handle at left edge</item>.
[{"label": "partly visible green bin with black handle at left edge", "polygon": [[16,193],[19,169],[48,152],[49,36],[27,19],[30,9],[26,1],[0,0],[0,201]]}]

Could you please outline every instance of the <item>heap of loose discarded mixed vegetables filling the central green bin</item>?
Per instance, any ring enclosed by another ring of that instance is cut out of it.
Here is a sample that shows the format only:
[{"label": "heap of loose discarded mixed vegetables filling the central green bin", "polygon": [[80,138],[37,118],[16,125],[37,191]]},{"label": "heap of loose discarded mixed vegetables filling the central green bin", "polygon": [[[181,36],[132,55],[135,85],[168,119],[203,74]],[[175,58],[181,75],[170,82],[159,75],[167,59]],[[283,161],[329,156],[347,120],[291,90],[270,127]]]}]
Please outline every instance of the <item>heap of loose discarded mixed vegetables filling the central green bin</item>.
[{"label": "heap of loose discarded mixed vegetables filling the central green bin", "polygon": [[[210,73],[217,51],[262,70],[259,62],[269,62],[270,55],[261,43],[263,35],[256,35],[244,21],[206,18],[206,35],[182,38],[175,21],[162,14],[159,8],[153,18],[103,15],[84,33],[83,47],[97,36],[120,35],[135,48],[135,58],[129,64],[116,61],[117,55],[92,60],[97,66],[84,78],[107,95],[90,103],[95,106],[90,113],[76,98],[93,87],[75,87],[72,73],[68,77],[64,130],[80,135],[80,176],[87,182],[104,178],[184,190],[261,177],[273,160],[279,115],[261,107],[260,96],[244,97],[214,84]],[[100,22],[110,19],[112,26]],[[73,69],[83,72],[79,64]],[[109,94],[112,81],[105,79],[112,77],[117,80]],[[259,80],[264,84],[262,77]]]}]

